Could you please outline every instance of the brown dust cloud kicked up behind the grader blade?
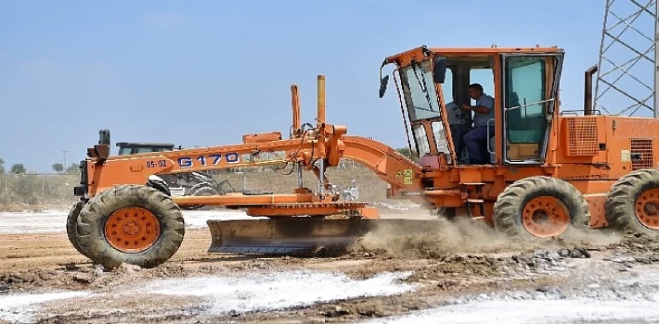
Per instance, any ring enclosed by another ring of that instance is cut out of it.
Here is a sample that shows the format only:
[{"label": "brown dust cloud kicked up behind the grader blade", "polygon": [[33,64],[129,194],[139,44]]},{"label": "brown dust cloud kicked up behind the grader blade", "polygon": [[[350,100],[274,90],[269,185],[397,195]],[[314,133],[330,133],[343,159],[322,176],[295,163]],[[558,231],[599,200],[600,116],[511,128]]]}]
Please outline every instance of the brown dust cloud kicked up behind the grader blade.
[{"label": "brown dust cloud kicked up behind the grader blade", "polygon": [[[547,239],[510,238],[488,223],[457,216],[451,220],[380,219],[372,231],[357,241],[352,254],[374,254],[398,258],[441,258],[457,253],[502,253],[529,251],[540,247],[607,245],[621,236],[604,229],[575,230]],[[409,215],[414,218],[413,215]]]}]

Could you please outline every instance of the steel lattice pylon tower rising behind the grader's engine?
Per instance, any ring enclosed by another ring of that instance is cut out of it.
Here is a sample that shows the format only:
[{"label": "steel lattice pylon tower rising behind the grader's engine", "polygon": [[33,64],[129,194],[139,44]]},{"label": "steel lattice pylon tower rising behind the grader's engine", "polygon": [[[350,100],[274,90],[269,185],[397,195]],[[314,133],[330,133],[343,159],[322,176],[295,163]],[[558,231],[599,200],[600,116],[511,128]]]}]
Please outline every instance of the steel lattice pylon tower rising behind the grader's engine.
[{"label": "steel lattice pylon tower rising behind the grader's engine", "polygon": [[594,109],[659,117],[656,0],[606,0]]}]

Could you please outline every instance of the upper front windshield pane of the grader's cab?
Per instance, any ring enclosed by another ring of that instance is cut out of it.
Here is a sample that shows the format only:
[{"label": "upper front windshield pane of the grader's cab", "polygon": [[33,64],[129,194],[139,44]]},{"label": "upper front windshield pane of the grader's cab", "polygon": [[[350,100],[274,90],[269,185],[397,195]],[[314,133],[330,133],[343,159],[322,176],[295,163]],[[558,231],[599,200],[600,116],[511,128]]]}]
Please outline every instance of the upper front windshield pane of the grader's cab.
[{"label": "upper front windshield pane of the grader's cab", "polygon": [[403,93],[412,122],[440,116],[430,60],[401,68]]}]

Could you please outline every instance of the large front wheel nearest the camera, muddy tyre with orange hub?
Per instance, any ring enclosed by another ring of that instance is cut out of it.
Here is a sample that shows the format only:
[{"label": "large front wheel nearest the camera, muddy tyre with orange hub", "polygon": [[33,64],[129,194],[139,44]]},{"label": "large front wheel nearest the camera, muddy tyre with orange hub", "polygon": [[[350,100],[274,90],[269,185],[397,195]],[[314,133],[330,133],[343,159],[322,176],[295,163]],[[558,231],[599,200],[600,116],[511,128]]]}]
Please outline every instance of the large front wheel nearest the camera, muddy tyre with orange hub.
[{"label": "large front wheel nearest the camera, muddy tyre with orange hub", "polygon": [[77,222],[80,249],[93,262],[156,267],[173,256],[185,235],[179,206],[158,189],[121,185],[92,198]]}]

